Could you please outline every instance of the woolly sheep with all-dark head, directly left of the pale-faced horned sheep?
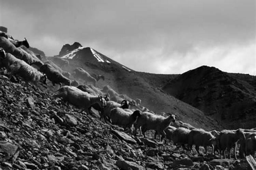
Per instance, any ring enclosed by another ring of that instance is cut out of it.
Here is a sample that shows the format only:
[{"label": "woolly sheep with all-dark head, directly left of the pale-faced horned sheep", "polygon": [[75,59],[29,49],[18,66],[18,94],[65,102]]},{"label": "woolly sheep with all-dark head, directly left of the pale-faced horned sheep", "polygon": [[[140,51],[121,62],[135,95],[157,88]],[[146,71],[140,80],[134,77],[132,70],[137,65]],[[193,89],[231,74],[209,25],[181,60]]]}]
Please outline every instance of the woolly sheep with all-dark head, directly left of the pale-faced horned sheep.
[{"label": "woolly sheep with all-dark head, directly left of the pale-faced horned sheep", "polygon": [[137,117],[140,116],[140,111],[134,111],[133,113],[127,112],[120,107],[111,109],[110,119],[112,124],[122,126],[124,129],[129,128],[131,132],[131,127],[136,121]]}]

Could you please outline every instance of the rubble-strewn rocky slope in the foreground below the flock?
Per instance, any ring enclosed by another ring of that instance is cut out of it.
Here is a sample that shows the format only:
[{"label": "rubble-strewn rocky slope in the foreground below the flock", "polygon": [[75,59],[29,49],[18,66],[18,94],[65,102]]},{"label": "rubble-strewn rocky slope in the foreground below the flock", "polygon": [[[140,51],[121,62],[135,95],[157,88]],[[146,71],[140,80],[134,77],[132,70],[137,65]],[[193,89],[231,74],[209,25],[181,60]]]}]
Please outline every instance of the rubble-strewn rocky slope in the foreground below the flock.
[{"label": "rubble-strewn rocky slope in the foreground below the flock", "polygon": [[51,85],[35,90],[3,70],[0,80],[0,169],[249,169],[245,160],[175,150],[154,141],[153,132],[129,136],[54,98]]}]

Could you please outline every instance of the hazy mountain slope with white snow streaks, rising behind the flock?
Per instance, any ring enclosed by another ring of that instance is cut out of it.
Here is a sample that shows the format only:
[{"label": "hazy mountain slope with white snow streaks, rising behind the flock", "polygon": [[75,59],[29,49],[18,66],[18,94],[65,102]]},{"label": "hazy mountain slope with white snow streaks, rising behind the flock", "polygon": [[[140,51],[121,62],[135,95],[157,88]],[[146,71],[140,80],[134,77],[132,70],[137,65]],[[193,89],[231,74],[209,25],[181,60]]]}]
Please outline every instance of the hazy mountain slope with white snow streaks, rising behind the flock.
[{"label": "hazy mountain slope with white snow streaks, rising behind the flock", "polygon": [[143,106],[157,114],[161,112],[177,114],[178,120],[206,130],[223,128],[199,109],[161,89],[170,79],[178,75],[137,72],[90,47],[79,47],[63,55],[62,58],[68,59],[70,63],[65,71],[72,73],[74,68],[82,67],[90,74],[102,74],[105,76],[105,81],[97,82],[98,87],[110,85],[119,94],[126,94],[132,99],[139,98]]}]

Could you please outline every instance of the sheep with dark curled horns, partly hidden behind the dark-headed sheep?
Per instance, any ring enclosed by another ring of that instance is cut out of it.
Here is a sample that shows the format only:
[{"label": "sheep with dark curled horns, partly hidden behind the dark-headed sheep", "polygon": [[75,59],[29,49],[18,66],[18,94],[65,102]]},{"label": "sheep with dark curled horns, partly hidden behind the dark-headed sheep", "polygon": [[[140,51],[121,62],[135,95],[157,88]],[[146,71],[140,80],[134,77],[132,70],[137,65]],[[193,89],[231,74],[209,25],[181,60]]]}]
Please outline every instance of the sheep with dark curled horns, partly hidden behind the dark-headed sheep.
[{"label": "sheep with dark curled horns, partly hidden behind the dark-headed sheep", "polygon": [[123,109],[129,108],[129,102],[126,101],[126,100],[123,100],[121,102],[121,104],[119,104],[119,103],[116,103],[114,101],[107,101],[106,102],[106,107],[104,107],[101,111],[100,119],[104,118],[105,122],[107,122],[106,120],[111,122],[110,121],[110,112],[111,112],[111,109],[116,108],[116,107],[120,107],[120,108],[123,108]]}]

